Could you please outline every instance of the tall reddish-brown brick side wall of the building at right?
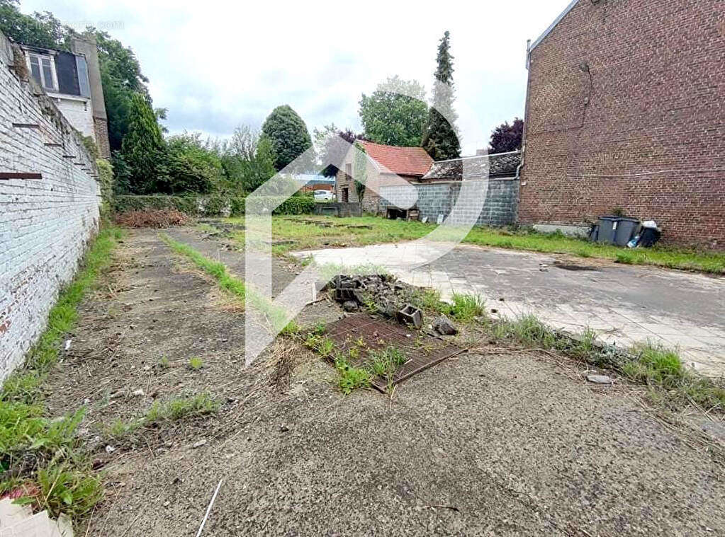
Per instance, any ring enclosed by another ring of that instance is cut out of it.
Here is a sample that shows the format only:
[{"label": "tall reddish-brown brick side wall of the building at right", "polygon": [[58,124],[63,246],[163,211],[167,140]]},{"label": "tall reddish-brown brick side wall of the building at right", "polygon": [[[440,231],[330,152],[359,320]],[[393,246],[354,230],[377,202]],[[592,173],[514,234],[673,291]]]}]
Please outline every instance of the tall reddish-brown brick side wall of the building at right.
[{"label": "tall reddish-brown brick side wall of the building at right", "polygon": [[579,1],[531,51],[520,220],[725,248],[724,65],[721,0]]}]

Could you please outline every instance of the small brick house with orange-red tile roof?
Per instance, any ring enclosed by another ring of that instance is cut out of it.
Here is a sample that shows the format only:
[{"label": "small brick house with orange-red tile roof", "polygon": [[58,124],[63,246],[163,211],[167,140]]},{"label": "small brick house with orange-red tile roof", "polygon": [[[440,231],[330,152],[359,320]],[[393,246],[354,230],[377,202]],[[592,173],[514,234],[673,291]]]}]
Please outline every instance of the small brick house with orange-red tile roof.
[{"label": "small brick house with orange-red tile roof", "polygon": [[[352,178],[355,169],[355,151],[349,151],[337,172],[336,195],[341,203],[361,203],[363,211],[378,213],[380,195],[384,185],[418,182],[428,172],[433,159],[423,148],[405,148],[359,140],[357,145],[365,151],[365,189],[363,199]],[[360,187],[362,190],[362,187]]]}]

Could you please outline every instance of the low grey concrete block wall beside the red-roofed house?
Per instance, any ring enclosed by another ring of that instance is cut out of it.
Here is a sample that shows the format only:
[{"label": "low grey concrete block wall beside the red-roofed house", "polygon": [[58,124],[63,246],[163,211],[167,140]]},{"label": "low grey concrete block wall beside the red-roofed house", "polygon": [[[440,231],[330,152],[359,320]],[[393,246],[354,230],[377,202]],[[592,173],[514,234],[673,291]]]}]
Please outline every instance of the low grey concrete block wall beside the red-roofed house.
[{"label": "low grey concrete block wall beside the red-roofed house", "polygon": [[[406,187],[382,187],[381,211],[388,206],[406,207],[415,203],[419,218],[435,222],[439,214],[451,224],[476,219],[477,226],[505,226],[516,221],[518,179],[501,178],[467,182],[467,193],[460,200],[460,181],[414,183],[417,201]],[[477,207],[486,196],[483,208]],[[455,212],[451,214],[455,206]]]}]

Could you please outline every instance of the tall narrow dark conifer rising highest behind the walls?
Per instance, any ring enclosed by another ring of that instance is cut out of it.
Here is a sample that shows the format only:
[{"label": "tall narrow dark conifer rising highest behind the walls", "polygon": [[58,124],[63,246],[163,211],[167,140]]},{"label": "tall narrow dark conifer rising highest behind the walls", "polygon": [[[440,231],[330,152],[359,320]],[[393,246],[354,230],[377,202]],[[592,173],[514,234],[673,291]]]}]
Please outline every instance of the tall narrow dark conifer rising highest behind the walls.
[{"label": "tall narrow dark conifer rising highest behind the walls", "polygon": [[[453,56],[450,54],[450,34],[444,33],[438,46],[434,74],[433,106],[423,135],[423,148],[436,161],[460,157],[460,142],[455,127],[457,114],[453,109]],[[449,122],[450,120],[450,122]],[[452,122],[452,123],[451,123]]]}]

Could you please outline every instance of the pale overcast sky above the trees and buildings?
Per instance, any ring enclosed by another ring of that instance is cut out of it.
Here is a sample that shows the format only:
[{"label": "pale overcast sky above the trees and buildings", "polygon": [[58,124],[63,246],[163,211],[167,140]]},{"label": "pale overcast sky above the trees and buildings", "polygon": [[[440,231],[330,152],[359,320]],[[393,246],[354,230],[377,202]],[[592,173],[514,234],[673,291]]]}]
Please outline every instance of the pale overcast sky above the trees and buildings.
[{"label": "pale overcast sky above the trees and buildings", "polygon": [[[431,88],[444,30],[455,56],[465,154],[523,117],[526,40],[569,0],[365,2],[23,0],[68,25],[96,25],[133,48],[170,132],[225,137],[289,104],[313,127],[360,129],[361,93],[391,75]],[[429,96],[429,95],[428,95]]]}]

